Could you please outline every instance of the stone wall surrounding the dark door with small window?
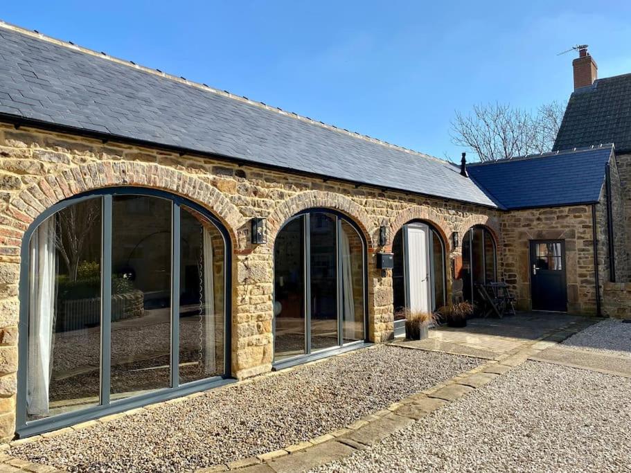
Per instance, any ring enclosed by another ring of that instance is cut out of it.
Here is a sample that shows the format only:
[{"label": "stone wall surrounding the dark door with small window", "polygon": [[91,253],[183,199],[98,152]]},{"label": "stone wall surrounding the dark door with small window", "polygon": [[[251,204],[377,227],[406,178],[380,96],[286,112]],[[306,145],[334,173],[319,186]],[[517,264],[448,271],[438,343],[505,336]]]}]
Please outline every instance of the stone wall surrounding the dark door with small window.
[{"label": "stone wall surrounding the dark door with small window", "polygon": [[[529,241],[565,240],[568,312],[596,314],[591,206],[510,211],[502,217],[501,233],[504,278],[515,293],[519,309],[532,307]],[[599,250],[599,257],[604,256]]]}]

